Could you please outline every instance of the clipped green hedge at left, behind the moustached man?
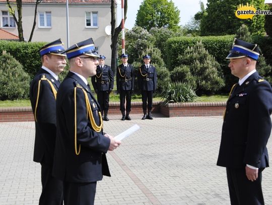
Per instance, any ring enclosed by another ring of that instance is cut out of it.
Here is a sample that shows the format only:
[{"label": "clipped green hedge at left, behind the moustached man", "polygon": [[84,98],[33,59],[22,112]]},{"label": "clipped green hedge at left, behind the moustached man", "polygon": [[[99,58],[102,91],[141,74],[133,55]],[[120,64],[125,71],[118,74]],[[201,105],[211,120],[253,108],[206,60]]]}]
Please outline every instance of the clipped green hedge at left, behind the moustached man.
[{"label": "clipped green hedge at left, behind the moustached man", "polygon": [[39,49],[45,45],[46,42],[18,42],[0,40],[0,53],[6,50],[14,56],[22,65],[31,78],[35,76],[41,67],[41,58]]}]

